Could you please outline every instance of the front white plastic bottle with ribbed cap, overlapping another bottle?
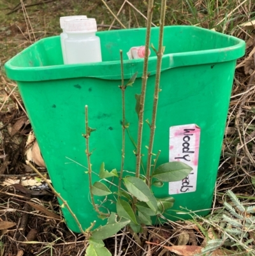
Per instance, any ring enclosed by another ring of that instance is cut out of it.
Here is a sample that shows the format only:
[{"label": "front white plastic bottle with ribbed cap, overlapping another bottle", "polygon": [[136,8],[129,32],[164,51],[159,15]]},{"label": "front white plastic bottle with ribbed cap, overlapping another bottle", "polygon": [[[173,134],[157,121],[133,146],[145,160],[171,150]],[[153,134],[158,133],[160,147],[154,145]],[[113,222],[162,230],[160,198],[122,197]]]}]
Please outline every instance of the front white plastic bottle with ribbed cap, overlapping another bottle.
[{"label": "front white plastic bottle with ribbed cap, overlapping another bottle", "polygon": [[68,34],[68,38],[64,39],[66,64],[102,61],[95,19],[66,19],[64,29]]}]

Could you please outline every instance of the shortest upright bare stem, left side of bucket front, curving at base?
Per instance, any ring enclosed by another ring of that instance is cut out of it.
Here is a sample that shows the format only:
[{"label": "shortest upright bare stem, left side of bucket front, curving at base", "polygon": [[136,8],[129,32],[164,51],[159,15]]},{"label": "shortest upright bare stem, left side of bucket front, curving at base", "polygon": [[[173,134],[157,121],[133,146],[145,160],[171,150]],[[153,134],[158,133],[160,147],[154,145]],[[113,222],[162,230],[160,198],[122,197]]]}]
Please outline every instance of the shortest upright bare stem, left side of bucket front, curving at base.
[{"label": "shortest upright bare stem, left side of bucket front, curving at base", "polygon": [[95,211],[99,214],[99,215],[105,215],[105,216],[109,216],[107,213],[103,213],[98,209],[98,206],[96,206],[95,200],[94,200],[94,196],[92,194],[92,169],[91,169],[91,153],[89,152],[89,136],[91,134],[91,128],[89,128],[89,110],[88,110],[88,106],[85,105],[85,131],[86,134],[84,135],[85,140],[86,140],[86,156],[87,156],[87,165],[88,165],[88,174],[89,174],[89,193],[91,195],[91,202],[92,202],[92,206],[94,207]]}]

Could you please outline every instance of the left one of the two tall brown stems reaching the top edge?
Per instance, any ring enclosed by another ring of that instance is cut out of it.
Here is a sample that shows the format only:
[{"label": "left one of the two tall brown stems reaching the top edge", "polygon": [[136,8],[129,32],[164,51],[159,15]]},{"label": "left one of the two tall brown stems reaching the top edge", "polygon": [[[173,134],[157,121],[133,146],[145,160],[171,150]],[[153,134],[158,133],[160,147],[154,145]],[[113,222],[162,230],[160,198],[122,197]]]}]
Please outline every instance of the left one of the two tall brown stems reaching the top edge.
[{"label": "left one of the two tall brown stems reaching the top edge", "polygon": [[149,0],[148,10],[147,10],[147,30],[145,38],[145,57],[143,63],[143,77],[142,77],[142,91],[140,98],[140,111],[139,111],[139,121],[138,121],[138,139],[137,139],[137,149],[136,149],[136,177],[140,175],[140,166],[142,158],[142,135],[143,135],[143,112],[144,112],[144,103],[145,103],[145,92],[148,79],[148,61],[149,61],[149,43],[150,43],[150,29],[152,22],[152,13],[153,13],[153,3],[154,0]]}]

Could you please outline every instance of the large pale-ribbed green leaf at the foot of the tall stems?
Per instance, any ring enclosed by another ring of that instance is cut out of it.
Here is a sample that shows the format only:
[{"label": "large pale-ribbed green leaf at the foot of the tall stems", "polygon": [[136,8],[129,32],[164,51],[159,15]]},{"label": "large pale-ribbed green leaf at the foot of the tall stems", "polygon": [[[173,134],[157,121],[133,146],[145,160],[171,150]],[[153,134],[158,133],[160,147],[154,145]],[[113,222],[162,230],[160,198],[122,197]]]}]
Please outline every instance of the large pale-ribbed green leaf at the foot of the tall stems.
[{"label": "large pale-ribbed green leaf at the foot of the tall stems", "polygon": [[125,177],[123,179],[128,192],[142,202],[149,202],[152,197],[150,188],[138,177]]}]

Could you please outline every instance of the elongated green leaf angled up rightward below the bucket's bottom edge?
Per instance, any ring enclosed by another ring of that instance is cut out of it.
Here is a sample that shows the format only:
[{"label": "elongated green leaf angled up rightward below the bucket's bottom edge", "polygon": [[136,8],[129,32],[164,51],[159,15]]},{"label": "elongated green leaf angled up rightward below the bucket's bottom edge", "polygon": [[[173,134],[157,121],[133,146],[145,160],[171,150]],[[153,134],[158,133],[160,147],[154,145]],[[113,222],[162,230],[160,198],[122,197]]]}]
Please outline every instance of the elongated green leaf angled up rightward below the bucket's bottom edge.
[{"label": "elongated green leaf angled up rightward below the bucket's bottom edge", "polygon": [[120,229],[130,223],[130,220],[120,219],[119,222],[107,223],[103,227],[99,227],[92,231],[92,238],[96,240],[103,240],[115,235]]}]

